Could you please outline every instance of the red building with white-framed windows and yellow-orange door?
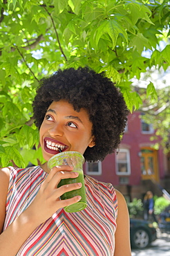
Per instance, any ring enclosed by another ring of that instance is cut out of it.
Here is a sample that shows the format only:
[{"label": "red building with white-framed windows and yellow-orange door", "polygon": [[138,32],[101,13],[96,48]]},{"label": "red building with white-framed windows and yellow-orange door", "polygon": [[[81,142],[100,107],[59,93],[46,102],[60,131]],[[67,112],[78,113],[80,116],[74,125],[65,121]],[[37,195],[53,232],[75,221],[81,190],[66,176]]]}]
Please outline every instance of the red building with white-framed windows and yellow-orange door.
[{"label": "red building with white-framed windows and yellow-orange door", "polygon": [[142,198],[147,190],[162,195],[159,185],[170,192],[170,155],[152,145],[155,131],[142,120],[139,111],[129,115],[118,154],[106,156],[99,163],[85,163],[84,172],[95,179],[111,182],[127,199]]}]

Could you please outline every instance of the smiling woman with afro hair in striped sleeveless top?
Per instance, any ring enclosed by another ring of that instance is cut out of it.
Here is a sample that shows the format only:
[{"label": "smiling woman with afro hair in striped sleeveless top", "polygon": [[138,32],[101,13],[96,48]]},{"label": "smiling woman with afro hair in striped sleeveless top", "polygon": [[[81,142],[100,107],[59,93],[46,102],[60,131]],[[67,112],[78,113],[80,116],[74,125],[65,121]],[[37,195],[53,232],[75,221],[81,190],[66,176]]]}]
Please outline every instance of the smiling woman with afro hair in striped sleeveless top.
[{"label": "smiling woman with afro hair in striped sleeveless top", "polygon": [[[111,80],[88,68],[60,70],[42,80],[33,110],[46,161],[61,150],[80,152],[86,161],[103,160],[120,144],[128,114]],[[110,183],[86,176],[87,208],[64,212],[80,200],[59,199],[81,186],[57,188],[61,179],[78,175],[71,170],[66,165],[48,170],[47,162],[1,170],[1,256],[131,255],[126,203]]]}]

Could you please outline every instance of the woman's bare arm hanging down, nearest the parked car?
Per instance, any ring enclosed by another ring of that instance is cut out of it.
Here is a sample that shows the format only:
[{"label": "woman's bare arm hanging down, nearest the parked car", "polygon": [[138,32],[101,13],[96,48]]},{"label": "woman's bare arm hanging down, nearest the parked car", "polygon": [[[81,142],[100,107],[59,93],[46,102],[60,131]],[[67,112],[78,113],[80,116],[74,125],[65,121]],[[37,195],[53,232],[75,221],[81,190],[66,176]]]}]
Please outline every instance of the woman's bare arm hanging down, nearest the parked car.
[{"label": "woman's bare arm hanging down, nearest the parked car", "polygon": [[117,229],[115,232],[115,253],[114,256],[131,256],[129,212],[124,196],[116,190],[118,214]]}]

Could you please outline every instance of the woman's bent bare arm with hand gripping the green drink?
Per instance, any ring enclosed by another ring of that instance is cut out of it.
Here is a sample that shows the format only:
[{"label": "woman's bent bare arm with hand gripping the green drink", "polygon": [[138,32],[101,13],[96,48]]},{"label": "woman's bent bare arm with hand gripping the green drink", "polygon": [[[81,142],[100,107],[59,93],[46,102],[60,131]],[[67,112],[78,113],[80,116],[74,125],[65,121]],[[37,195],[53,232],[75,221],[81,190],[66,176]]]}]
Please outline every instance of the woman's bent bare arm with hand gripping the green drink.
[{"label": "woman's bent bare arm with hand gripping the green drink", "polygon": [[46,219],[50,218],[59,208],[79,201],[77,196],[73,199],[59,200],[59,196],[70,190],[79,188],[77,183],[57,188],[61,179],[75,178],[77,174],[70,172],[73,168],[68,165],[54,167],[30,206],[2,232],[6,214],[6,196],[8,192],[9,170],[0,170],[0,252],[1,256],[15,256],[24,241]]}]

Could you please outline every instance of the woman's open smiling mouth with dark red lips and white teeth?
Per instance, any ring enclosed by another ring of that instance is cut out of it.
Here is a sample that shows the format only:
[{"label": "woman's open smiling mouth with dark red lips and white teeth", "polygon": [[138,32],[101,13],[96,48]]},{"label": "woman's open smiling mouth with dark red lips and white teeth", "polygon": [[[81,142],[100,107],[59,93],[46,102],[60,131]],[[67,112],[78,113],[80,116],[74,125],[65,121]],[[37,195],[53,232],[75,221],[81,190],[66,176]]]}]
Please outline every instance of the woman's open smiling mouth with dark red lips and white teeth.
[{"label": "woman's open smiling mouth with dark red lips and white teeth", "polygon": [[53,138],[44,138],[44,149],[49,154],[58,154],[59,152],[64,152],[68,149],[68,146],[61,143],[59,140]]}]

